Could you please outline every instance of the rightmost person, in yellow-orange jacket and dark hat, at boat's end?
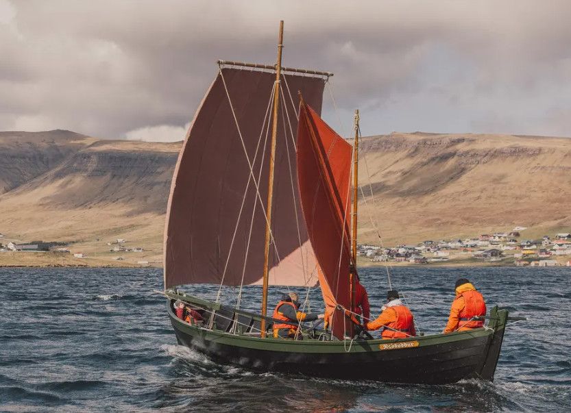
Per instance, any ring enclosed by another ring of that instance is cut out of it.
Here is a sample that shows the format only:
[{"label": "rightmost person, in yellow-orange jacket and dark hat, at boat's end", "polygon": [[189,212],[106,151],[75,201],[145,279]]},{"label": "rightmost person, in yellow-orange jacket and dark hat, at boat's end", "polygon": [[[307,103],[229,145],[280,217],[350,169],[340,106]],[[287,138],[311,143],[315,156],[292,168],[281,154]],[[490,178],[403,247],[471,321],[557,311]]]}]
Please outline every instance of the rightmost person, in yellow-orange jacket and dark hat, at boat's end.
[{"label": "rightmost person, in yellow-orange jacket and dark hat, at boat's end", "polygon": [[458,279],[455,287],[456,299],[452,302],[448,324],[442,332],[448,334],[484,327],[483,320],[472,320],[474,317],[486,315],[484,297],[467,278]]}]

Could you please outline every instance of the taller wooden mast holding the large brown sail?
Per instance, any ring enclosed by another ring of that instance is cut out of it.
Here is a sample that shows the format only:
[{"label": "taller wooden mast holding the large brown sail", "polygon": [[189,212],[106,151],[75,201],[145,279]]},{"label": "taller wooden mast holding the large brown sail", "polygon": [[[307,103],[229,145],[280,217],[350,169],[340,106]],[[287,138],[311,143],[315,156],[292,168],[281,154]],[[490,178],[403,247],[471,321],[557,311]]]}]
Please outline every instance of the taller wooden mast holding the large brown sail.
[{"label": "taller wooden mast holding the large brown sail", "polygon": [[[278,37],[278,61],[276,62],[276,83],[274,84],[274,120],[271,125],[271,149],[269,155],[269,178],[267,183],[266,207],[266,236],[264,245],[264,273],[262,292],[262,316],[267,313],[267,286],[269,273],[269,245],[271,243],[271,203],[274,195],[274,160],[276,158],[276,138],[278,135],[278,109],[280,106],[280,74],[282,71],[282,47],[284,40],[284,21],[280,21],[280,34]],[[261,336],[266,336],[266,321],[262,318],[260,323]]]}]

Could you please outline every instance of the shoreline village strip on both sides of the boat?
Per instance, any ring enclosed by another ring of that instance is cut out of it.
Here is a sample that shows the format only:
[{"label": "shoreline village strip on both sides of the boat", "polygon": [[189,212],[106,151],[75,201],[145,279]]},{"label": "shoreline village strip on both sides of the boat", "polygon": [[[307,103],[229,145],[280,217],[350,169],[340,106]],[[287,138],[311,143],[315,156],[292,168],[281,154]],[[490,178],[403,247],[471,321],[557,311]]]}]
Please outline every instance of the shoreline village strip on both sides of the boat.
[{"label": "shoreline village strip on both sides of the boat", "polygon": [[[480,234],[473,238],[452,240],[424,240],[416,245],[398,245],[382,247],[379,245],[359,245],[357,255],[359,264],[374,266],[417,265],[435,266],[570,266],[571,267],[571,232],[543,236],[541,239],[529,240],[522,237],[525,227],[515,227],[513,231]],[[65,242],[15,242],[3,241],[0,234],[0,253],[48,253],[51,255],[69,255],[76,260],[99,258],[120,264],[136,266],[160,266],[160,262],[149,260],[140,254],[146,251],[143,247],[129,246],[124,238],[116,238],[105,242],[107,249],[84,248],[76,251],[73,245]],[[99,239],[97,239],[99,242]],[[89,245],[89,244],[87,244]],[[138,255],[134,253],[139,253]],[[134,255],[132,255],[134,254]],[[136,258],[140,257],[140,258]]]}]

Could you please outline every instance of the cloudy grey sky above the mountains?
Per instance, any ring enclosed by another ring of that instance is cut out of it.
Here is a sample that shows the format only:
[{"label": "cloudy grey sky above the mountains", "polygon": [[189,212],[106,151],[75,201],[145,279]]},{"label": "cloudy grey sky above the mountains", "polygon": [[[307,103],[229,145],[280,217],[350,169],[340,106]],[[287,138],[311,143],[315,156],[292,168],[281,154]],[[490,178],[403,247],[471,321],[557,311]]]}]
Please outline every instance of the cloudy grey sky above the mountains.
[{"label": "cloudy grey sky above the mountains", "polygon": [[340,132],[360,108],[367,135],[571,136],[569,0],[0,0],[0,130],[181,140],[216,60],[273,64],[280,19]]}]

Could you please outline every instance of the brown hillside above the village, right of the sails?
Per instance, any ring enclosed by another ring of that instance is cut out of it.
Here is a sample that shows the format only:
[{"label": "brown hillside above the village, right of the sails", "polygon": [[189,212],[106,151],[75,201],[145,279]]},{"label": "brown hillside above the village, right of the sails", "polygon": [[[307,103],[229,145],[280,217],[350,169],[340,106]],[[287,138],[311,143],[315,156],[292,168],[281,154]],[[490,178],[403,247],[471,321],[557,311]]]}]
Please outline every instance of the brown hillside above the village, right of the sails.
[{"label": "brown hillside above the village, right of the sails", "polygon": [[569,138],[391,134],[364,138],[363,153],[377,205],[363,205],[363,240],[376,238],[371,215],[389,243],[571,225]]}]

